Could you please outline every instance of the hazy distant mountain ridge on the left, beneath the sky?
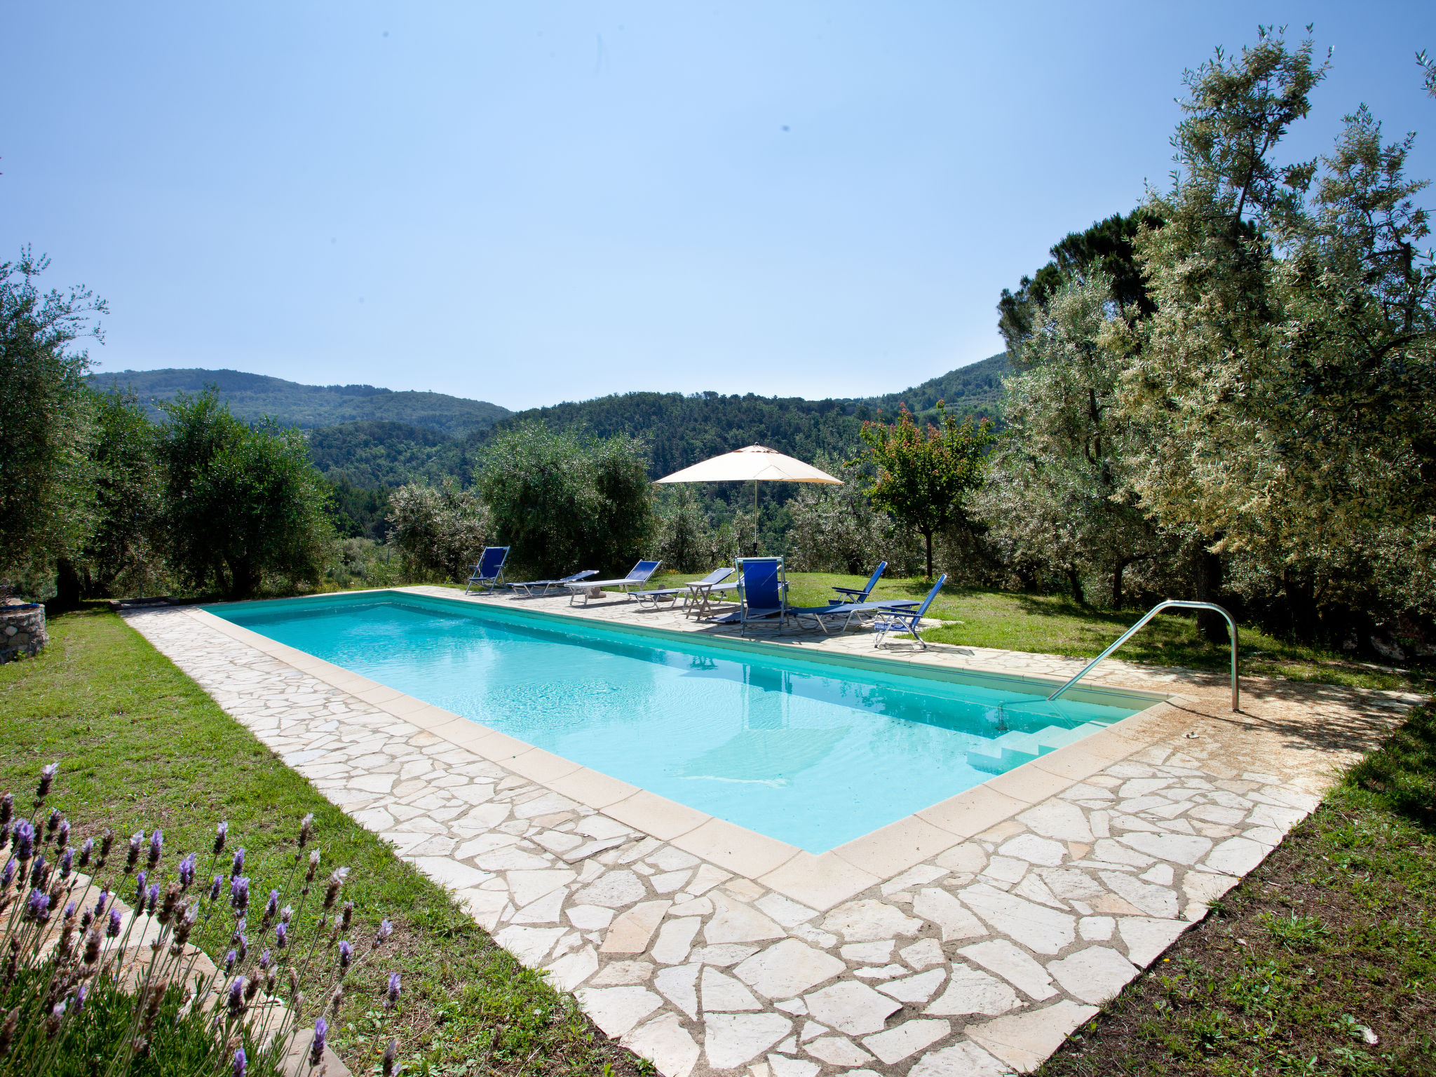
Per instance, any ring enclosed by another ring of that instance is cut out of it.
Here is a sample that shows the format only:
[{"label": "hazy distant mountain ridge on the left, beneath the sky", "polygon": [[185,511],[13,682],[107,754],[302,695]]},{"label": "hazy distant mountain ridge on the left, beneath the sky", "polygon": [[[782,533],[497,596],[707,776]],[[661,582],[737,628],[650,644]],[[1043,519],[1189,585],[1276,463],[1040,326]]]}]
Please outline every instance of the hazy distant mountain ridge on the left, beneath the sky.
[{"label": "hazy distant mountain ridge on the left, beneath the sky", "polygon": [[96,389],[128,386],[158,414],[154,401],[178,392],[200,392],[214,385],[230,411],[256,421],[271,415],[284,425],[313,429],[339,422],[402,422],[451,437],[491,426],[510,415],[508,408],[467,401],[441,392],[395,392],[372,385],[300,385],[240,370],[119,370],[92,373]]}]

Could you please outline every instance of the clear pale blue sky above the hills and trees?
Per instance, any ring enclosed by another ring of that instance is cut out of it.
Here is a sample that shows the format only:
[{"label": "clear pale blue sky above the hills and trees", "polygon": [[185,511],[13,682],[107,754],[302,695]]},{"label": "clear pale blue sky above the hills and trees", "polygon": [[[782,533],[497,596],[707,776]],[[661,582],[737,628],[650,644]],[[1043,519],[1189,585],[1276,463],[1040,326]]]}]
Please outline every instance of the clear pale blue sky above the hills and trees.
[{"label": "clear pale blue sky above the hills and trees", "polygon": [[1292,157],[1364,101],[1436,174],[1429,0],[10,0],[0,257],[109,300],[106,370],[896,391],[1166,182],[1182,69],[1258,22],[1337,46]]}]

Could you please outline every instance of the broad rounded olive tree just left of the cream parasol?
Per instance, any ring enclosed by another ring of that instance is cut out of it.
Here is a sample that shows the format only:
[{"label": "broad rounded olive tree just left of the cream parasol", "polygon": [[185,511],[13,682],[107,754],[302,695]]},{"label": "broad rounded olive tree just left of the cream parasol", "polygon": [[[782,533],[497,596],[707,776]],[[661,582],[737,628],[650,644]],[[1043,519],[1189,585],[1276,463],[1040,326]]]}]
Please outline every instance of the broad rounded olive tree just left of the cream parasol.
[{"label": "broad rounded olive tree just left of the cream parasol", "polygon": [[494,437],[478,468],[498,541],[514,547],[526,572],[625,573],[655,540],[653,493],[633,438],[524,422]]}]

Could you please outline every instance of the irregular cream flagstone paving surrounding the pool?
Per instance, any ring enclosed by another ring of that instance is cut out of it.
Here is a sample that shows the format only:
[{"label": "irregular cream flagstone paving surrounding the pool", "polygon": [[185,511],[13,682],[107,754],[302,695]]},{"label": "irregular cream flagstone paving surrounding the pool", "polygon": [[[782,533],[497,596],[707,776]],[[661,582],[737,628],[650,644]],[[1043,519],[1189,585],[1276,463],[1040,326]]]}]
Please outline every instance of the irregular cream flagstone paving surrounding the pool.
[{"label": "irregular cream flagstone paving surrounding the pool", "polygon": [[[615,606],[590,616],[616,616]],[[1057,778],[1031,807],[971,837],[948,834],[942,852],[890,877],[803,903],[271,658],[204,613],[128,619],[665,1077],[1034,1068],[1414,699],[1318,688],[1272,702],[1268,691],[1268,707],[1232,717],[1215,681],[1126,758]],[[949,651],[959,663],[972,656]],[[1022,658],[1055,675],[1076,668]],[[1302,715],[1327,732],[1302,740]],[[1323,740],[1333,728],[1340,742]]]}]

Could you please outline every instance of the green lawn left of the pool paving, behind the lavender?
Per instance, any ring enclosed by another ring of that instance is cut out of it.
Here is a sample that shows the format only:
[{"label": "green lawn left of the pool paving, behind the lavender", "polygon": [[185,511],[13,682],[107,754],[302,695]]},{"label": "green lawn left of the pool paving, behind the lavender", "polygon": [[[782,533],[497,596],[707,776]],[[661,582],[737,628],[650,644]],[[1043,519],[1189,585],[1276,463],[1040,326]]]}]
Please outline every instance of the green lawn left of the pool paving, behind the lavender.
[{"label": "green lawn left of the pool paving, behind the lavender", "polygon": [[[256,893],[284,882],[299,820],[314,813],[326,875],[339,864],[352,869],[346,893],[359,920],[352,938],[370,938],[383,916],[395,925],[378,964],[350,976],[333,1022],[332,1043],[356,1074],[373,1070],[391,1034],[409,1073],[649,1068],[101,607],[55,617],[39,658],[0,666],[0,791],[29,803],[50,761],[60,764],[52,803],[65,810],[76,841],[105,826],[122,836],[162,827],[172,870],[184,853],[207,853],[214,824],[227,819],[231,849],[248,850]],[[197,942],[213,958],[230,948],[227,933]],[[398,1017],[381,1028],[383,981],[393,969],[404,972],[404,995]]]}]

